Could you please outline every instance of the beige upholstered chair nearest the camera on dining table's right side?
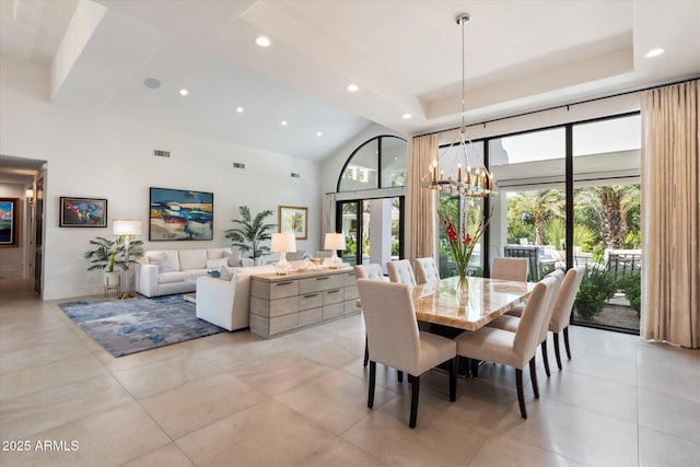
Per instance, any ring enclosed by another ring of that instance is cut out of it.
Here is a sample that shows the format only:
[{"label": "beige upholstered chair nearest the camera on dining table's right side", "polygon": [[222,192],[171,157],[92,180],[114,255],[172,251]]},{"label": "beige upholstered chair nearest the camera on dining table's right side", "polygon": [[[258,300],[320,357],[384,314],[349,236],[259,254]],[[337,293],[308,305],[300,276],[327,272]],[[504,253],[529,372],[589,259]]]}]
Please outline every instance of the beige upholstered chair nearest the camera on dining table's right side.
[{"label": "beige upholstered chair nearest the camera on dining table's right side", "polygon": [[[535,353],[537,339],[546,318],[556,278],[545,278],[538,282],[527,300],[523,317],[515,332],[485,326],[477,331],[465,331],[455,338],[457,355],[501,363],[515,369],[515,385],[521,416],[526,419],[525,396],[523,394],[523,369],[529,363],[529,374],[535,397],[539,398],[537,373],[535,371]],[[472,364],[472,369],[477,365]],[[475,374],[476,376],[476,374]]]}]

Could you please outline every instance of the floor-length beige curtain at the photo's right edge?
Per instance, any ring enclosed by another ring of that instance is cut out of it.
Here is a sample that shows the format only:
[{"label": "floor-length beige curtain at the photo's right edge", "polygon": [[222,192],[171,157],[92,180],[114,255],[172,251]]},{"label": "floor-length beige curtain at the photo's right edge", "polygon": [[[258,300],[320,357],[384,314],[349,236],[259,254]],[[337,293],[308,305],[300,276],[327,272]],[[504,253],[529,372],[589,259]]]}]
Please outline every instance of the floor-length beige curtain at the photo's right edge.
[{"label": "floor-length beige curtain at the photo's right edge", "polygon": [[700,347],[700,81],[642,93],[645,339]]}]

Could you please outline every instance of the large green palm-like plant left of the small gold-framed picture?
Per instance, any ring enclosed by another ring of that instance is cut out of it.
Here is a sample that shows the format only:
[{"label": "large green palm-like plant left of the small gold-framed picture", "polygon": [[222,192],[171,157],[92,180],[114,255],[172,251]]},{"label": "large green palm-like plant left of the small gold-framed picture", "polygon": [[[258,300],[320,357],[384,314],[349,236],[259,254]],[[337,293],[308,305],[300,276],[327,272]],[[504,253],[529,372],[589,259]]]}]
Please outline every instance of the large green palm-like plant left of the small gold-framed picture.
[{"label": "large green palm-like plant left of the small gold-framed picture", "polygon": [[272,211],[266,209],[253,218],[247,206],[242,206],[238,210],[242,219],[232,221],[238,226],[224,231],[223,234],[231,240],[231,246],[238,247],[241,252],[250,256],[255,264],[258,264],[261,256],[270,254],[270,247],[262,245],[262,242],[272,238],[271,231],[276,224],[265,223],[265,219],[272,215]]}]

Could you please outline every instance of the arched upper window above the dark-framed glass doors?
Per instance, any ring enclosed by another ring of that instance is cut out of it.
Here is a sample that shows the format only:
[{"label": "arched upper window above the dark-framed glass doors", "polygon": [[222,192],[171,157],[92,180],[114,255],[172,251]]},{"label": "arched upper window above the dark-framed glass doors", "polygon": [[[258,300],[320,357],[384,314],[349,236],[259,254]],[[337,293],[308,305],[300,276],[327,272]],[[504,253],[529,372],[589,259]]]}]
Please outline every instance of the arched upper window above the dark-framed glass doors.
[{"label": "arched upper window above the dark-framed glass doors", "polygon": [[348,157],[338,178],[338,192],[406,186],[407,157],[405,139],[372,138]]}]

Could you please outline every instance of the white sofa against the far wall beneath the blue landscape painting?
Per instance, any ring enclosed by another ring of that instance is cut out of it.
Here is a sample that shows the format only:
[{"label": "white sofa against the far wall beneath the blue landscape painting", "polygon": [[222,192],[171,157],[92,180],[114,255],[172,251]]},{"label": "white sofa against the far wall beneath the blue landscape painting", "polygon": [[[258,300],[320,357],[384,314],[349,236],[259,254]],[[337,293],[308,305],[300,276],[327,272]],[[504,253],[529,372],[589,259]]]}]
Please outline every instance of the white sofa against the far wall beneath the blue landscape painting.
[{"label": "white sofa against the far wall beneath the blue landscape painting", "polygon": [[148,297],[195,292],[197,278],[207,276],[208,270],[253,266],[253,260],[247,258],[231,264],[236,259],[230,255],[231,248],[147,252],[137,268],[137,292]]}]

